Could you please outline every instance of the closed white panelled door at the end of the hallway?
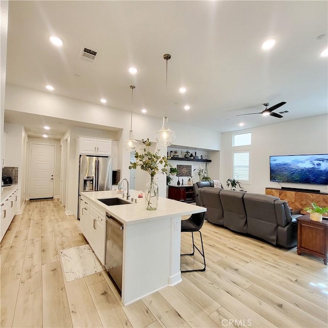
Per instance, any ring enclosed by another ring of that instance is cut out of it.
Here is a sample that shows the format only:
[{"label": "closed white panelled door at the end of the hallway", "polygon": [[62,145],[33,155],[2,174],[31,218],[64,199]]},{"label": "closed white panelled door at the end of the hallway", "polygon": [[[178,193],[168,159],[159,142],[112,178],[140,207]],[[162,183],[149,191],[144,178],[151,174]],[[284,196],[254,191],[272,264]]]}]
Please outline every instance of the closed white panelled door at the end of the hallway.
[{"label": "closed white panelled door at the end of the hallway", "polygon": [[31,145],[30,199],[53,197],[54,145]]}]

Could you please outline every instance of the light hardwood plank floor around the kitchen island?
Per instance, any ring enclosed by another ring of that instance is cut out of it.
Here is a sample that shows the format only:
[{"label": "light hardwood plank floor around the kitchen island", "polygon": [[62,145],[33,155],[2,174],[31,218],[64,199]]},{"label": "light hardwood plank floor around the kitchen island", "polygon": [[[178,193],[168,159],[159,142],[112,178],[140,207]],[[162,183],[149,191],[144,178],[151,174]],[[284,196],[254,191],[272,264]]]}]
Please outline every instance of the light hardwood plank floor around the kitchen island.
[{"label": "light hardwood plank floor around the kitchen island", "polygon": [[[124,307],[106,271],[66,281],[58,252],[87,243],[78,222],[57,200],[28,202],[15,216],[1,243],[1,327],[327,326],[321,259],[208,222],[207,270]],[[181,239],[189,251],[189,234]],[[182,257],[181,267],[199,260]]]}]

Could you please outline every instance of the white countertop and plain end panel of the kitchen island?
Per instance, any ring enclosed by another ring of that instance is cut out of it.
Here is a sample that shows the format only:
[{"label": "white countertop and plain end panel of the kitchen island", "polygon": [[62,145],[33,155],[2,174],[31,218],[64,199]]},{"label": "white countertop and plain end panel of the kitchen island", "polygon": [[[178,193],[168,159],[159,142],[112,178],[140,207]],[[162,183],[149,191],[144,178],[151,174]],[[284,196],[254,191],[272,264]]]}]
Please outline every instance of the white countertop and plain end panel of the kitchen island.
[{"label": "white countertop and plain end panel of the kitchen island", "polygon": [[134,190],[130,193],[138,199],[137,203],[116,206],[106,206],[98,200],[121,198],[116,191],[82,193],[84,199],[105,209],[124,226],[121,290],[124,305],[181,282],[181,216],[206,211],[206,208],[163,197],[159,197],[157,210],[147,211],[145,198],[138,198]]}]

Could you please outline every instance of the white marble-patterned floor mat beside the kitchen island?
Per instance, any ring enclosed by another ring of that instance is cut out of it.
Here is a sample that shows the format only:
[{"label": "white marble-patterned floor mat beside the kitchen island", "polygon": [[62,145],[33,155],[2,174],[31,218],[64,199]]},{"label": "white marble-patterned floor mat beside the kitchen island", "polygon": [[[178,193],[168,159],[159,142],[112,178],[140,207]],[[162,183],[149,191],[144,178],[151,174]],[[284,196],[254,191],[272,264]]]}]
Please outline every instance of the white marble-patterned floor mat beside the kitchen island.
[{"label": "white marble-patterned floor mat beside the kitchen island", "polygon": [[82,245],[59,252],[66,281],[83,278],[103,271],[89,245]]}]

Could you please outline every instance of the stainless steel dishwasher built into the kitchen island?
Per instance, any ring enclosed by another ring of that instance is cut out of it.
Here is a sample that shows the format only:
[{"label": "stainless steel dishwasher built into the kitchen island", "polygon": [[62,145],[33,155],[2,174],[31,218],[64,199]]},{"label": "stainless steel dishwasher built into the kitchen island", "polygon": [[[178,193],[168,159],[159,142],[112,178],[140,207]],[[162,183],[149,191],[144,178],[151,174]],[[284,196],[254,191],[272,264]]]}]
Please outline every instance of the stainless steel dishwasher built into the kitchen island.
[{"label": "stainless steel dishwasher built into the kitchen island", "polygon": [[106,260],[105,268],[122,290],[123,224],[106,213]]}]

